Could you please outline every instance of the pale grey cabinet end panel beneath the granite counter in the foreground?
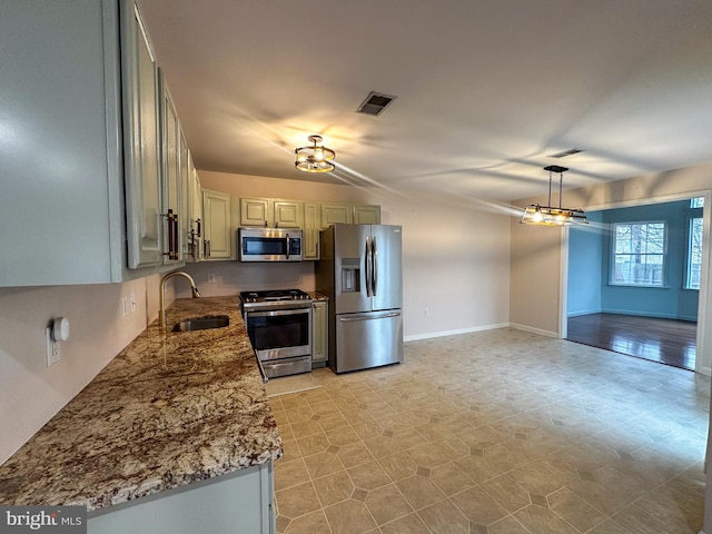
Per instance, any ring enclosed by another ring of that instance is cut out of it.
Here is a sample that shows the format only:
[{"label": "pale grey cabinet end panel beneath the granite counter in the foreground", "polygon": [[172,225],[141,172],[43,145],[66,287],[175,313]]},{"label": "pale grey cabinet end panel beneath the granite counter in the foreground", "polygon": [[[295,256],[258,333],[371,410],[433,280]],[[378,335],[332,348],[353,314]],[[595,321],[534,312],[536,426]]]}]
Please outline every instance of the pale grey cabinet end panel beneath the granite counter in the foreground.
[{"label": "pale grey cabinet end panel beneath the granite counter in the foreground", "polygon": [[273,463],[90,512],[88,534],[275,534]]}]

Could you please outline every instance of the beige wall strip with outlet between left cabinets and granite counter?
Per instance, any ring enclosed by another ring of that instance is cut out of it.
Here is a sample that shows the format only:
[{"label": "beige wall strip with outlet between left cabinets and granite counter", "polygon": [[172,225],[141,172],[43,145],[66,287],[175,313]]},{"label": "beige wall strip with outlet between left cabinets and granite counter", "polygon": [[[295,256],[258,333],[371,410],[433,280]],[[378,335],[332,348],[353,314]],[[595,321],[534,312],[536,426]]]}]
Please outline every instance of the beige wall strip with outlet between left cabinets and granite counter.
[{"label": "beige wall strip with outlet between left cabinets and granite counter", "polygon": [[[147,285],[0,288],[0,464],[79,393],[147,324]],[[121,297],[136,295],[122,317]],[[44,328],[67,317],[62,358],[46,366]]]}]

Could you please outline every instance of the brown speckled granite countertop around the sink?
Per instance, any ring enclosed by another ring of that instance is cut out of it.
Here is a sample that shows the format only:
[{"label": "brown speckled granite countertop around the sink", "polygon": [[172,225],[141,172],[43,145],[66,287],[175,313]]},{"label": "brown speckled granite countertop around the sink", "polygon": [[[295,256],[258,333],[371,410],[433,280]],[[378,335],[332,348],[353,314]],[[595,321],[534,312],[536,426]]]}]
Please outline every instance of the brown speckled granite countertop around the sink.
[{"label": "brown speckled granite countertop around the sink", "polygon": [[179,299],[0,466],[0,503],[88,511],[277,459],[283,454],[238,298]]}]

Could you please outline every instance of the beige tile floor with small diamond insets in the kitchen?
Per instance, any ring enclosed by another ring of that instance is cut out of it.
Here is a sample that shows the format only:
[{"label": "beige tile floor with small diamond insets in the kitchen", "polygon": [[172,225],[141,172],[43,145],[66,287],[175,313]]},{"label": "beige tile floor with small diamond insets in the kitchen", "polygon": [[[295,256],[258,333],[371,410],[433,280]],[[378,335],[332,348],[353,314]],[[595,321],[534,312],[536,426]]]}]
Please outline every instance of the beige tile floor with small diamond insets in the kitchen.
[{"label": "beige tile floor with small diamond insets in the kitchen", "polygon": [[710,378],[511,328],[271,398],[285,534],[696,534]]}]

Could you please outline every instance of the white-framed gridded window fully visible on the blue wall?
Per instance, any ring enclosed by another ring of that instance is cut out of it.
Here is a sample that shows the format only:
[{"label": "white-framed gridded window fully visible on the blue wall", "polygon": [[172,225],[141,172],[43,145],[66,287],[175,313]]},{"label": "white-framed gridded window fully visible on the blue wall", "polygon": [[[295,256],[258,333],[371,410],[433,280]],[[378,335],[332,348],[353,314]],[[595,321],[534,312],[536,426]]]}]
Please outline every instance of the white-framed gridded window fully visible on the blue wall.
[{"label": "white-framed gridded window fully visible on the blue wall", "polygon": [[662,286],[665,222],[613,225],[613,276],[619,286]]}]

